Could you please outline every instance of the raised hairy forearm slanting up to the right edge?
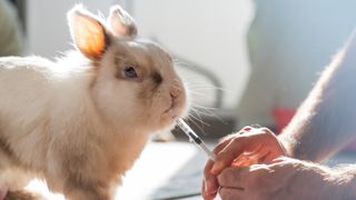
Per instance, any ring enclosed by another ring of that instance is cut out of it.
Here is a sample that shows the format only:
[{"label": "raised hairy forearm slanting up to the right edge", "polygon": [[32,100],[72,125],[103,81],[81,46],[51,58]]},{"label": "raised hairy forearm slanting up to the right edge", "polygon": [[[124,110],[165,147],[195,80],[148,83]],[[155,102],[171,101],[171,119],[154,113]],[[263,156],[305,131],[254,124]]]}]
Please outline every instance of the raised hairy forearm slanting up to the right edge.
[{"label": "raised hairy forearm slanting up to the right edge", "polygon": [[356,34],[279,136],[291,157],[322,161],[356,138]]}]

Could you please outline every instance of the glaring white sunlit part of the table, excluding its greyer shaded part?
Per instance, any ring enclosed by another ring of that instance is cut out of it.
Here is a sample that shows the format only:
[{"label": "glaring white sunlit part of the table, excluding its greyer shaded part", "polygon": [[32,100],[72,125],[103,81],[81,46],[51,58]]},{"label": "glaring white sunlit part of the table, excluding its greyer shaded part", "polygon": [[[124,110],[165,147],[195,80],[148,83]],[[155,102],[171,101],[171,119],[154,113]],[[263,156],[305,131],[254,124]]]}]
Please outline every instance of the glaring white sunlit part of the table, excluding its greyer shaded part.
[{"label": "glaring white sunlit part of the table, excluding its greyer shaded part", "polygon": [[[115,199],[149,199],[152,192],[167,184],[171,177],[179,173],[179,169],[187,164],[197,151],[200,149],[191,143],[148,143],[134,168],[127,172],[123,184],[118,187]],[[41,193],[46,199],[65,200],[61,194],[50,193],[47,186],[40,180],[33,180],[28,189]]]}]

